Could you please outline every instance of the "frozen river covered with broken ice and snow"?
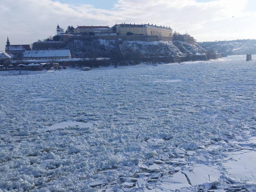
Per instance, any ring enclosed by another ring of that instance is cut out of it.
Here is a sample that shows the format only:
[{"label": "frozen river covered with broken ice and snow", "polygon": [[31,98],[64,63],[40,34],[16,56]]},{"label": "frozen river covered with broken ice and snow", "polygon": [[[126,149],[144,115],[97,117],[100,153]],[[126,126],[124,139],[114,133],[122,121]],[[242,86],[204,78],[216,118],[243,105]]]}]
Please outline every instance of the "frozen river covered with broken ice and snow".
[{"label": "frozen river covered with broken ice and snow", "polygon": [[0,191],[253,191],[255,59],[0,72]]}]

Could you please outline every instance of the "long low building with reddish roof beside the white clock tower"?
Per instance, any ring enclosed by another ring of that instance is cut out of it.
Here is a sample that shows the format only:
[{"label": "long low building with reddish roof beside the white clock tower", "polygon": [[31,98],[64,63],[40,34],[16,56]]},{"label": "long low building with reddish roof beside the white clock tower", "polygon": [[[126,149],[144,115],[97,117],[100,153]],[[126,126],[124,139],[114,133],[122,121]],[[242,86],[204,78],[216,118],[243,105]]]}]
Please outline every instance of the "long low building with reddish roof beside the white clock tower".
[{"label": "long low building with reddish roof beside the white clock tower", "polygon": [[113,30],[108,26],[77,26],[77,28],[74,29],[74,33],[94,33],[94,34],[109,34],[113,33]]}]

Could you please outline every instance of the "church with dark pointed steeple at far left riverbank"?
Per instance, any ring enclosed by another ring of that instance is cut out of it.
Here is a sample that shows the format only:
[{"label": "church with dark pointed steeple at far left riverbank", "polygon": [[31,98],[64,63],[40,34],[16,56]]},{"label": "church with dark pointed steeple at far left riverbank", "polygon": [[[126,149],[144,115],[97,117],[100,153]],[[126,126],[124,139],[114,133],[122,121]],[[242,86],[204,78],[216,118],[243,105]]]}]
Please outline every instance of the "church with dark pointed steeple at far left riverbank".
[{"label": "church with dark pointed steeple at far left riverbank", "polygon": [[12,56],[12,58],[22,58],[25,51],[31,50],[30,45],[11,45],[9,37],[5,45],[5,52]]}]

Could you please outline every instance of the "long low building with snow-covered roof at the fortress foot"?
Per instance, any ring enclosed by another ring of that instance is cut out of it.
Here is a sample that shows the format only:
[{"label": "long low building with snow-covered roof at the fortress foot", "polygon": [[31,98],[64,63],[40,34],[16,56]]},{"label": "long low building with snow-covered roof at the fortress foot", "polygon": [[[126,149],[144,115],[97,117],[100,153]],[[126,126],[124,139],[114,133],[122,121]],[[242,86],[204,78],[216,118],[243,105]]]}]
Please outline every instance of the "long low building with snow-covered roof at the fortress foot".
[{"label": "long low building with snow-covered roof at the fortress foot", "polygon": [[71,59],[69,49],[56,50],[30,50],[25,51],[23,60],[57,60],[57,59]]}]

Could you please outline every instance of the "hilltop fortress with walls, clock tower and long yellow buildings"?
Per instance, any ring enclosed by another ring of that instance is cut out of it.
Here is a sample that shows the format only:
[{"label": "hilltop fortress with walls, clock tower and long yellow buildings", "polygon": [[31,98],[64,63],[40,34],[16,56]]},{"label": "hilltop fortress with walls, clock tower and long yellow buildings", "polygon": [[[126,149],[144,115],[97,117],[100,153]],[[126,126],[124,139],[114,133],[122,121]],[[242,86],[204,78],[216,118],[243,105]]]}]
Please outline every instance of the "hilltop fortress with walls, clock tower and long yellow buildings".
[{"label": "hilltop fortress with walls, clock tower and long yellow buildings", "polygon": [[63,49],[73,40],[92,41],[92,40],[118,40],[118,41],[172,41],[179,40],[195,43],[190,36],[172,36],[172,28],[167,26],[156,26],[153,24],[116,24],[112,28],[108,26],[77,26],[69,33],[61,33],[60,26],[56,29],[57,35],[53,36],[52,41],[35,42],[32,49]]}]

